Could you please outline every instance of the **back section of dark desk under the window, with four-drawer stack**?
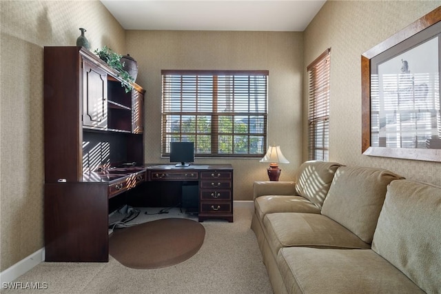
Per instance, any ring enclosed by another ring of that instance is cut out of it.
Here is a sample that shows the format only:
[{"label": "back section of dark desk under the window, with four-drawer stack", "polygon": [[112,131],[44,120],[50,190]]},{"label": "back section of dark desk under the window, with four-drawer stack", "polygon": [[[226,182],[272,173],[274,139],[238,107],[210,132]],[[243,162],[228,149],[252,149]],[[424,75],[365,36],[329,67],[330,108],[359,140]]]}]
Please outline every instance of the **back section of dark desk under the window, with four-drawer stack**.
[{"label": "back section of dark desk under the window, with four-drawer stack", "polygon": [[198,220],[233,222],[233,167],[231,164],[147,165],[147,182],[198,182]]}]

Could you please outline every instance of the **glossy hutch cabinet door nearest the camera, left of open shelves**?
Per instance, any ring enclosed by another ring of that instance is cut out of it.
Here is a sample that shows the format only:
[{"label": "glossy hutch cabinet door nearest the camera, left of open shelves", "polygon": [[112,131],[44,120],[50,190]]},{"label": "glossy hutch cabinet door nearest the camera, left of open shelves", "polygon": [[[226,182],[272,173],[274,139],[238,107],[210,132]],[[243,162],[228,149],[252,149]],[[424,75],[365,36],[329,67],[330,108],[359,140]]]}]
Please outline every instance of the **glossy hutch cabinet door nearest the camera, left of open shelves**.
[{"label": "glossy hutch cabinet door nearest the camera, left of open shelves", "polygon": [[83,59],[83,126],[107,128],[107,73]]}]

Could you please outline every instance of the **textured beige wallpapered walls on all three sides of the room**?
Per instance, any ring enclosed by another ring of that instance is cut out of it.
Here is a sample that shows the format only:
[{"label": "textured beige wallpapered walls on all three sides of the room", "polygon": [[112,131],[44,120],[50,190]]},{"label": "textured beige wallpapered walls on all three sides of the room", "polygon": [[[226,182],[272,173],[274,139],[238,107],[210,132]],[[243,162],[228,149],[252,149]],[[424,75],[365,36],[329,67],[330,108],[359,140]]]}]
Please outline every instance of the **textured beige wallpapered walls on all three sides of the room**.
[{"label": "textured beige wallpapered walls on all three sides of the room", "polygon": [[[360,55],[440,4],[328,1],[304,40],[300,32],[125,32],[99,1],[0,1],[0,271],[43,247],[43,46],[73,46],[84,27],[92,50],[107,45],[137,59],[137,82],[147,90],[147,162],[167,162],[159,144],[161,69],[269,70],[268,142],[291,161],[281,180],[306,158],[305,66],[331,47],[330,160],[441,184],[438,163],[360,154]],[[267,179],[256,159],[196,162],[231,163],[236,200],[251,199],[252,182]]]}]

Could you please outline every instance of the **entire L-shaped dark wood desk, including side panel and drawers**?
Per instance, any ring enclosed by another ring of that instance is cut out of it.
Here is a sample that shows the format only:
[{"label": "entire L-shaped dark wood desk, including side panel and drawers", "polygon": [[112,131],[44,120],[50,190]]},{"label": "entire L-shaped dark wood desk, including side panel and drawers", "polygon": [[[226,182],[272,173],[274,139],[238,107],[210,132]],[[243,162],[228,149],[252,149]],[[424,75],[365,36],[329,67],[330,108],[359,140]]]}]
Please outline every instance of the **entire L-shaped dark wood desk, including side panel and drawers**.
[{"label": "entire L-shaped dark wood desk, including side panel and drawers", "polygon": [[179,181],[197,184],[199,222],[218,218],[233,222],[233,168],[229,164],[109,168],[85,173],[81,182],[45,184],[45,261],[108,262],[110,200],[118,195],[130,199],[134,188],[140,188],[145,197],[149,193],[145,182]]}]

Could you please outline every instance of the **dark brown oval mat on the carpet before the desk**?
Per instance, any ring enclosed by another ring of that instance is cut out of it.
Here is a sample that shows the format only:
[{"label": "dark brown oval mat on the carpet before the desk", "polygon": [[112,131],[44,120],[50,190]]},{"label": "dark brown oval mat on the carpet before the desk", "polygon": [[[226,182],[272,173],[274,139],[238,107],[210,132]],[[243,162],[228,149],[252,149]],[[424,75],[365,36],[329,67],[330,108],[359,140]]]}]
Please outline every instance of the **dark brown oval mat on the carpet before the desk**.
[{"label": "dark brown oval mat on the carpet before the desk", "polygon": [[130,268],[162,268],[192,257],[204,237],[205,228],[192,219],[158,219],[116,229],[109,237],[109,253]]}]

